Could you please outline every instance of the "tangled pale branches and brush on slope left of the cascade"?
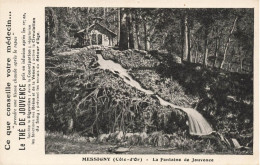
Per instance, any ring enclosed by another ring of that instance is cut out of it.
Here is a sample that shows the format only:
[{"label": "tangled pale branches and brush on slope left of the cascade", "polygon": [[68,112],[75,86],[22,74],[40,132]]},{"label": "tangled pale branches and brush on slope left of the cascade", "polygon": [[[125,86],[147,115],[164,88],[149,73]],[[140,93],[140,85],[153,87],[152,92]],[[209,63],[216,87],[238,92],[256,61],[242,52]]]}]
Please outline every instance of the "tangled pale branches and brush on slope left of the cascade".
[{"label": "tangled pale branches and brush on slope left of the cascade", "polygon": [[47,130],[94,135],[143,131],[154,125],[145,124],[150,123],[152,112],[170,110],[111,72],[98,69],[95,61],[94,52],[87,49],[46,59]]}]

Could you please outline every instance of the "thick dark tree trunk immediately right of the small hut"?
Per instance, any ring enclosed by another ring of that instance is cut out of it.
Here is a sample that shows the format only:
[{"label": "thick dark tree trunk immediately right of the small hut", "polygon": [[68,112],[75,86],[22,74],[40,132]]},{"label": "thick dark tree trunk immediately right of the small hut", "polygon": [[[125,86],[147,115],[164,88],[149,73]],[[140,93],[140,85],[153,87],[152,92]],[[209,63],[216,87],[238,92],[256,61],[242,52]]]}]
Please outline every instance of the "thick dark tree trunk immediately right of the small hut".
[{"label": "thick dark tree trunk immediately right of the small hut", "polygon": [[[123,10],[123,9],[122,9]],[[128,49],[128,31],[125,11],[121,12],[119,49]]]}]

